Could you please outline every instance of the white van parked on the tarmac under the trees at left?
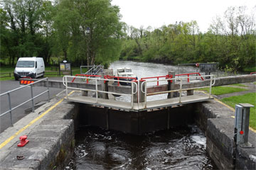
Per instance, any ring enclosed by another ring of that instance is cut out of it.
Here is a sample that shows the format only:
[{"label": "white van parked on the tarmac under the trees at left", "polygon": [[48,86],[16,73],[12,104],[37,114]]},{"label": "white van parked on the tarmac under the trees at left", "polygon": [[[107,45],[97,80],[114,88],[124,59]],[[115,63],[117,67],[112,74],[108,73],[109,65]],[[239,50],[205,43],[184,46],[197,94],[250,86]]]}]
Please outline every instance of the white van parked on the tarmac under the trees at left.
[{"label": "white van parked on the tarmac under the trees at left", "polygon": [[45,65],[41,57],[20,57],[14,69],[15,80],[21,77],[43,77]]}]

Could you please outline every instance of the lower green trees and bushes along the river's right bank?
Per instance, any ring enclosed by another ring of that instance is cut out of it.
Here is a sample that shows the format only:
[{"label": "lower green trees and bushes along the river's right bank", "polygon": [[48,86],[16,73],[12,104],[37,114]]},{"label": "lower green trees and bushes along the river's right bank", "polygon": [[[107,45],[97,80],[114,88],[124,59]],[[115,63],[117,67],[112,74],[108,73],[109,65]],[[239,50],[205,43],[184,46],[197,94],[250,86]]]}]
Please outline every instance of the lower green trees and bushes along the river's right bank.
[{"label": "lower green trees and bushes along the river's right bank", "polygon": [[169,64],[219,62],[237,72],[255,66],[256,25],[245,6],[230,7],[216,17],[207,33],[196,21],[176,22],[152,29],[126,26],[121,59]]}]

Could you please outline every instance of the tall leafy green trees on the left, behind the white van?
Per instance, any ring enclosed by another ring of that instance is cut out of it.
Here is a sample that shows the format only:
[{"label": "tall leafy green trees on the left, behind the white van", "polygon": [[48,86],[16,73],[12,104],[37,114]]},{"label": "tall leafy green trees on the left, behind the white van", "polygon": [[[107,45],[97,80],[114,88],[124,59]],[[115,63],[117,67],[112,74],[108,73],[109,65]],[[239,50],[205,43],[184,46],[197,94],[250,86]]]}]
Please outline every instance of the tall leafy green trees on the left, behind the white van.
[{"label": "tall leafy green trees on the left, behind the white van", "polygon": [[0,7],[1,64],[32,56],[76,65],[119,58],[123,23],[110,0],[3,0]]}]

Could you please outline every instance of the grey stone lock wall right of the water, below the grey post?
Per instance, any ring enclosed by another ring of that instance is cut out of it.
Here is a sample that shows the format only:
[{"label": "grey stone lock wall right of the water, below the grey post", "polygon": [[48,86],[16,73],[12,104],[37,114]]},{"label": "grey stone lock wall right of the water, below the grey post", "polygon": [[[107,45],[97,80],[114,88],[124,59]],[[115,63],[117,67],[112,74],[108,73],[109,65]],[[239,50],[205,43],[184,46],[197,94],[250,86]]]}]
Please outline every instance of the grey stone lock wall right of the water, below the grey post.
[{"label": "grey stone lock wall right of the water, below the grey post", "polygon": [[[196,108],[196,124],[206,133],[206,151],[218,169],[256,169],[256,149],[235,147],[235,113],[218,101],[198,103]],[[252,130],[249,142],[256,145]]]}]

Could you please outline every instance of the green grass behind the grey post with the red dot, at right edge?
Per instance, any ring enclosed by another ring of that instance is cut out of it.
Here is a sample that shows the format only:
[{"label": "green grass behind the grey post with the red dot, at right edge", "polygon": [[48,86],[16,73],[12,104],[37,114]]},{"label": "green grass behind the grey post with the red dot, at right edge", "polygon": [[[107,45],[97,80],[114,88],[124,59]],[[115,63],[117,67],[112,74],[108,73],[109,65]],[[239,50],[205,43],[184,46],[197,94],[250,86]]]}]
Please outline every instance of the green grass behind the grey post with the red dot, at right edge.
[{"label": "green grass behind the grey post with the red dot, at right edge", "polygon": [[256,93],[249,93],[240,96],[232,96],[223,98],[220,101],[226,103],[228,106],[235,108],[236,104],[239,103],[250,103],[253,108],[250,108],[250,127],[256,130]]}]

